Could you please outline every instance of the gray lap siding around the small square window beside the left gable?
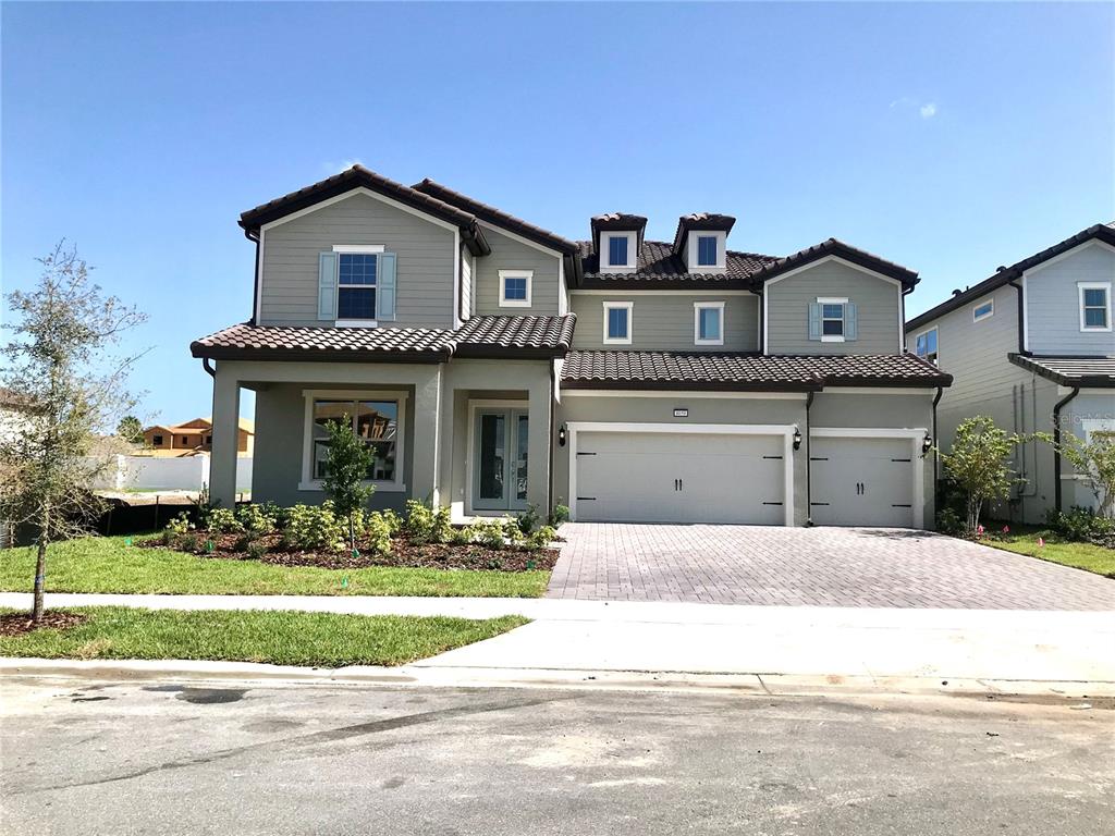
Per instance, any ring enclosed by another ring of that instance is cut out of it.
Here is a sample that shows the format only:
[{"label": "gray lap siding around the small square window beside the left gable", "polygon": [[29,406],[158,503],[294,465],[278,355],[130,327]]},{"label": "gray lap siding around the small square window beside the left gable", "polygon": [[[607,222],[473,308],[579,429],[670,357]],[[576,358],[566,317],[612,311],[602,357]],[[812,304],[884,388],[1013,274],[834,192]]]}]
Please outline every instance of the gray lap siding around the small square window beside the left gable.
[{"label": "gray lap siding around the small square window beside the left gable", "polygon": [[[556,253],[544,253],[537,247],[524,244],[513,237],[485,229],[484,236],[492,246],[492,254],[476,260],[476,313],[507,317],[555,317],[560,294],[561,257]],[[531,307],[500,307],[500,271],[531,270]]]}]

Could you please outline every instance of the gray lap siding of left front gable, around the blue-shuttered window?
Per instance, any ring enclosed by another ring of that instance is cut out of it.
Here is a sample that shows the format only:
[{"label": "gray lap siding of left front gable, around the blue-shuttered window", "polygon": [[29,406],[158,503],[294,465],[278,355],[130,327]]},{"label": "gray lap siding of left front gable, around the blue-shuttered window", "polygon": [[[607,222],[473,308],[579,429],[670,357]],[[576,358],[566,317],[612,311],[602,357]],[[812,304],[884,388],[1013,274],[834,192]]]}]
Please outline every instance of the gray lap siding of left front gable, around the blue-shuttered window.
[{"label": "gray lap siding of left front gable, around the blue-shuttered window", "polygon": [[363,194],[266,230],[261,321],[320,325],[318,253],[382,244],[397,256],[396,327],[453,327],[454,233]]}]

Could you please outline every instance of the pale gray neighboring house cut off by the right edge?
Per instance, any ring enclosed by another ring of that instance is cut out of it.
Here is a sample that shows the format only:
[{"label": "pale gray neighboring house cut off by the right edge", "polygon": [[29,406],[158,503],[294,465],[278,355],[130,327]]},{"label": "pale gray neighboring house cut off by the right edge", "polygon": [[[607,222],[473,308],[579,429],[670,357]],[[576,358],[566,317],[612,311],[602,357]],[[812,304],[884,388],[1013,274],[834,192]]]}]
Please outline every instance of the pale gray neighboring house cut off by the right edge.
[{"label": "pale gray neighboring house cut off by the right edge", "polygon": [[[909,349],[954,379],[938,407],[946,449],[975,415],[1015,432],[1115,431],[1113,284],[1115,226],[1097,224],[910,320]],[[1020,448],[1016,468],[1026,482],[997,509],[1011,518],[1095,507],[1087,482],[1046,443]]]}]

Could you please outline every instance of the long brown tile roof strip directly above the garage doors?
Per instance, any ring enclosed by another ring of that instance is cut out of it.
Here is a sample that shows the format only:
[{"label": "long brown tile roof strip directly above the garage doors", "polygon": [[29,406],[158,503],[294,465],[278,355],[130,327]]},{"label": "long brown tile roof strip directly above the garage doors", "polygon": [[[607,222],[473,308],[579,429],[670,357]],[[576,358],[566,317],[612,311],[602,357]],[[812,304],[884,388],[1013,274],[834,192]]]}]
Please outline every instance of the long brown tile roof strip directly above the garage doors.
[{"label": "long brown tile roof strip directly above the garage doors", "polygon": [[825,386],[949,386],[913,354],[844,357],[672,351],[570,351],[562,386],[580,389],[809,391]]}]

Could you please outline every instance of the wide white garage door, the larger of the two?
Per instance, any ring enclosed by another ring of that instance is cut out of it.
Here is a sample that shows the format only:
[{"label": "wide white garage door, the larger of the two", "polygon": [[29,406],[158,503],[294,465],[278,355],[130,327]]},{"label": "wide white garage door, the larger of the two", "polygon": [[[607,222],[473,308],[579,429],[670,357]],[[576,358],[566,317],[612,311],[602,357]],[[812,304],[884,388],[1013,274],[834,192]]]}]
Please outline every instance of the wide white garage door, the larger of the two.
[{"label": "wide white garage door, the larger of the two", "polygon": [[782,525],[783,437],[580,432],[576,518]]}]

